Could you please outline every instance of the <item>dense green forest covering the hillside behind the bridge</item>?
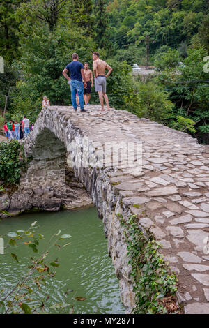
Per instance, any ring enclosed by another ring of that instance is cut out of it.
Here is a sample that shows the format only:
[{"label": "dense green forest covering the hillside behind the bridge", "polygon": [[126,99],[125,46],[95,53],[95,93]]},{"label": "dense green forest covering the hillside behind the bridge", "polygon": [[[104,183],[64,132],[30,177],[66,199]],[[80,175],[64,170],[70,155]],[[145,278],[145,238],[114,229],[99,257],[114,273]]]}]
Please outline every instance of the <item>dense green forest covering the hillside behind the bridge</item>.
[{"label": "dense green forest covering the hillside behind the bridge", "polygon": [[[0,109],[9,94],[6,118],[27,114],[35,121],[42,96],[52,105],[70,105],[63,68],[72,52],[92,68],[98,50],[114,68],[107,79],[110,105],[207,140],[207,0],[12,0],[2,2],[0,13]],[[131,65],[146,64],[148,38],[149,63],[157,71],[141,82],[132,78]],[[98,95],[91,101],[98,103]]]}]

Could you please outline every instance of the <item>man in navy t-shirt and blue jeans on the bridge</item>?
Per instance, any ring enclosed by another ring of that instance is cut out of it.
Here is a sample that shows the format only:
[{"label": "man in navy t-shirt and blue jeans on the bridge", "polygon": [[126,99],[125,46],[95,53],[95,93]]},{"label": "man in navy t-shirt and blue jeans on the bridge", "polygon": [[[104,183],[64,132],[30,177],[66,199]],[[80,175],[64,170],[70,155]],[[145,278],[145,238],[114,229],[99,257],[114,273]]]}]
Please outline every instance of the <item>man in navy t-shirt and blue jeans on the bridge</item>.
[{"label": "man in navy t-shirt and blue jeans on the bridge", "polygon": [[[84,110],[84,88],[87,87],[86,77],[84,74],[84,66],[78,59],[77,54],[72,54],[72,61],[64,68],[63,76],[68,80],[68,84],[70,84],[73,109],[75,111],[77,110],[76,93],[78,93],[81,112],[86,112],[86,110]],[[68,71],[70,71],[70,77],[67,74]]]}]

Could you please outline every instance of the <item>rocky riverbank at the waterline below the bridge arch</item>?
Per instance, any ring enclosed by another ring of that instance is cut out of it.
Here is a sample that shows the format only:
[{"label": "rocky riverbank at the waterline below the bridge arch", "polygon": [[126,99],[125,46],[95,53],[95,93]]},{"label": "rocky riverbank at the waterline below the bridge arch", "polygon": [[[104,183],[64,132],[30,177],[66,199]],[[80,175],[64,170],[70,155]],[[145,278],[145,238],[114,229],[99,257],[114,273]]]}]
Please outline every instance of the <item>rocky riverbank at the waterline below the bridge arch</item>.
[{"label": "rocky riverbank at the waterline below the bridge arch", "polygon": [[0,194],[0,217],[6,218],[24,211],[60,211],[93,206],[84,185],[75,179],[74,172],[65,167],[65,190],[42,186],[15,186]]}]

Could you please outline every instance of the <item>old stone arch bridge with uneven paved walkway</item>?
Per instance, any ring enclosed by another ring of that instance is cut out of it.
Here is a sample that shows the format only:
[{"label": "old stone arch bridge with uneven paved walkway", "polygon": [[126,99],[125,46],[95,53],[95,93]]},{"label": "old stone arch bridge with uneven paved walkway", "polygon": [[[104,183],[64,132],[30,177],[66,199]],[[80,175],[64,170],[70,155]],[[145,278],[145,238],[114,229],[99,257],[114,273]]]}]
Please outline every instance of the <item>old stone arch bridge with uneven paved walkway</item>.
[{"label": "old stone arch bridge with uneven paved walkway", "polygon": [[[109,151],[112,143],[123,145],[116,149],[116,165],[114,149]],[[185,313],[209,313],[208,146],[130,112],[98,112],[97,105],[89,105],[86,113],[72,107],[42,110],[24,150],[30,159],[21,179],[24,188],[65,190],[67,158],[91,195],[104,223],[127,313],[134,294],[117,213],[124,218],[139,215],[141,230],[150,228],[160,241],[178,274],[177,296]],[[130,163],[123,161],[127,153]]]}]

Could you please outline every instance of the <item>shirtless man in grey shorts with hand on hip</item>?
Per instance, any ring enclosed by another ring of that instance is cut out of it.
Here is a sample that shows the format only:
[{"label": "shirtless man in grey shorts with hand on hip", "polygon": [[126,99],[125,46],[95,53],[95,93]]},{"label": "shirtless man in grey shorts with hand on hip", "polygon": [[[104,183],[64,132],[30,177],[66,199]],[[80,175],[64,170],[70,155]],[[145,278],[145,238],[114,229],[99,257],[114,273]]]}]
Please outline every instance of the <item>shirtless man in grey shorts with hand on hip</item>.
[{"label": "shirtless man in grey shorts with hand on hip", "polygon": [[[106,94],[106,78],[111,74],[112,68],[106,63],[106,61],[102,61],[98,52],[93,52],[93,74],[95,76],[95,92],[98,92],[100,98],[101,109],[104,110],[104,101],[107,105],[107,110],[109,110],[109,100]],[[108,73],[104,75],[105,70],[108,70]]]}]

